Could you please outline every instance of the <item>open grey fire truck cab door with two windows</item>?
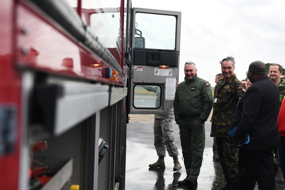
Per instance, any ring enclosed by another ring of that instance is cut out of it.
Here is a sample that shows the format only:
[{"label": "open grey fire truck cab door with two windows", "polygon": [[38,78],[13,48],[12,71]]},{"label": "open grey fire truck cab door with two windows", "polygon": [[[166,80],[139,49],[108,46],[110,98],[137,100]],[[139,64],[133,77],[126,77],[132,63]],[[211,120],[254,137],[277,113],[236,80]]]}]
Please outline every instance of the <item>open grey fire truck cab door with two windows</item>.
[{"label": "open grey fire truck cab door with two windows", "polygon": [[179,74],[181,12],[133,8],[130,114],[166,114]]}]

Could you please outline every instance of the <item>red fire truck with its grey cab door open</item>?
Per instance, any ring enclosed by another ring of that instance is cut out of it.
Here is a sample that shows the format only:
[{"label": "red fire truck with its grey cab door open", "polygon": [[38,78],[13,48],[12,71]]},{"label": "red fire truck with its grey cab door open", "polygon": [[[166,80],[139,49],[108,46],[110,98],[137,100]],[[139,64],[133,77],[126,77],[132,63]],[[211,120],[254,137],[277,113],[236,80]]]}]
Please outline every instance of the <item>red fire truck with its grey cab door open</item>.
[{"label": "red fire truck with its grey cab door open", "polygon": [[0,5],[0,189],[125,189],[129,114],[173,104],[181,12],[130,0]]}]

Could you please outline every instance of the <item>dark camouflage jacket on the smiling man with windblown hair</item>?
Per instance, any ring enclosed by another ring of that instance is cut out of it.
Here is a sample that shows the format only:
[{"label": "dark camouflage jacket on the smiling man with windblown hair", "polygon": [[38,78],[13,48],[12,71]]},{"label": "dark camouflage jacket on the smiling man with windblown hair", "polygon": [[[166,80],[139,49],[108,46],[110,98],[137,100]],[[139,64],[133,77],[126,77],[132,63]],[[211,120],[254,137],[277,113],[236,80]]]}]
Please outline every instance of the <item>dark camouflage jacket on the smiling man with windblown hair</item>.
[{"label": "dark camouflage jacket on the smiling man with windblown hair", "polygon": [[237,79],[236,74],[226,81],[224,78],[219,80],[214,92],[211,137],[229,137],[227,132],[237,103],[243,95],[242,89],[245,89],[245,86]]}]

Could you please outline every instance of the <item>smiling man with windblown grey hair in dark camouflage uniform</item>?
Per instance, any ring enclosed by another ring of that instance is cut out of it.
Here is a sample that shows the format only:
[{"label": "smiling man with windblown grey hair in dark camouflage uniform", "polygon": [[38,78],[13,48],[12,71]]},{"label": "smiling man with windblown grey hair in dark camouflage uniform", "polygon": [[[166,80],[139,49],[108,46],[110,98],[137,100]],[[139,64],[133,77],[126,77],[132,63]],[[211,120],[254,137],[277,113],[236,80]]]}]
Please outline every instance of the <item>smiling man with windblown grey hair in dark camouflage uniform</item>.
[{"label": "smiling man with windblown grey hair in dark camouflage uniform", "polygon": [[219,80],[219,85],[214,91],[213,117],[211,137],[216,138],[217,152],[225,177],[225,187],[220,190],[234,189],[237,168],[238,148],[230,146],[230,136],[227,133],[231,125],[231,119],[235,114],[237,103],[243,95],[245,86],[234,74],[235,59],[233,57],[224,58],[220,61],[223,78]]}]

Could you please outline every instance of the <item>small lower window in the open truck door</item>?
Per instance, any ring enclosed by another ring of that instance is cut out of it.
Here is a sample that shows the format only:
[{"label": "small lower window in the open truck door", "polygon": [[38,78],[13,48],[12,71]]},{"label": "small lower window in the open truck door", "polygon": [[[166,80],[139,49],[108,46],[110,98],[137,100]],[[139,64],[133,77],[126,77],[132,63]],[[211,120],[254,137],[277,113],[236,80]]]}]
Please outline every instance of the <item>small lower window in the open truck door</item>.
[{"label": "small lower window in the open truck door", "polygon": [[133,105],[136,109],[158,109],[161,106],[161,87],[135,85],[133,97]]}]

